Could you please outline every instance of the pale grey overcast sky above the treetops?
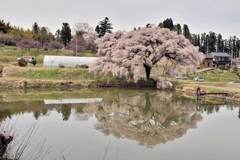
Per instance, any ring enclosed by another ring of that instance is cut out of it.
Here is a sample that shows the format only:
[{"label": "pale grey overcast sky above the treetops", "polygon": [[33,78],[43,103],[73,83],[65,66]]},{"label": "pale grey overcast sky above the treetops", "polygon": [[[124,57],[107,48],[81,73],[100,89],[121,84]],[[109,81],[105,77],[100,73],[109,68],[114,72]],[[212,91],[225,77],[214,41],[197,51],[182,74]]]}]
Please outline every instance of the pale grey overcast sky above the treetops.
[{"label": "pale grey overcast sky above the treetops", "polygon": [[108,17],[113,31],[130,31],[147,23],[158,25],[167,18],[191,33],[221,33],[223,38],[240,38],[239,0],[5,0],[0,19],[31,29],[34,22],[55,34],[67,22],[88,23],[93,28]]}]

